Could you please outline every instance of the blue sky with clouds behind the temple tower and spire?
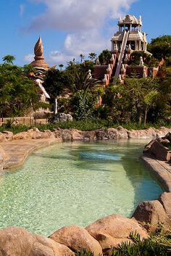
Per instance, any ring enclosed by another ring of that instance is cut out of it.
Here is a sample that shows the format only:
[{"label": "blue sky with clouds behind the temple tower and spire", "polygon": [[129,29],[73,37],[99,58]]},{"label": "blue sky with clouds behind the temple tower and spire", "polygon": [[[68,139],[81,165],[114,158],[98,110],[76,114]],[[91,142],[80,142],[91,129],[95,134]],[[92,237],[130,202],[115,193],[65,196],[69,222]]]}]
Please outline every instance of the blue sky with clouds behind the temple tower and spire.
[{"label": "blue sky with clouds behind the temple tower and spire", "polygon": [[171,0],[0,0],[0,63],[14,55],[14,64],[29,64],[41,35],[50,65],[66,65],[80,54],[111,49],[117,21],[142,16],[147,40],[171,35]]}]

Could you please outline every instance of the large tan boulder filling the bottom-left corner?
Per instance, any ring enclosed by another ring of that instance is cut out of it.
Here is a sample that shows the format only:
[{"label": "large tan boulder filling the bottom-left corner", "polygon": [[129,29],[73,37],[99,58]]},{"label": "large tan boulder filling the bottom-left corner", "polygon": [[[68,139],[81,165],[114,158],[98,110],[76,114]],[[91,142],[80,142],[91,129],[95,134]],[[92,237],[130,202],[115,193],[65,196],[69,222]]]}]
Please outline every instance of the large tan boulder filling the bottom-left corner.
[{"label": "large tan boulder filling the bottom-left corner", "polygon": [[69,256],[73,252],[63,244],[31,234],[24,228],[8,227],[0,230],[1,256]]}]

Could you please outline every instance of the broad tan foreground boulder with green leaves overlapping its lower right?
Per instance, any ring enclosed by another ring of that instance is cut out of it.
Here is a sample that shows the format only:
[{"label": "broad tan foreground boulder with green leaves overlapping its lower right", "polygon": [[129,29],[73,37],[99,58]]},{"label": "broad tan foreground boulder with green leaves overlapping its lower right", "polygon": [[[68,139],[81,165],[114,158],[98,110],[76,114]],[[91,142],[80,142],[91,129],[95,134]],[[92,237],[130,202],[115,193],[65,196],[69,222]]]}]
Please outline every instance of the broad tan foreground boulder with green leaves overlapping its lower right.
[{"label": "broad tan foreground boulder with green leaves overlapping its lower right", "polygon": [[105,253],[111,253],[112,247],[118,247],[122,241],[130,241],[130,232],[140,234],[141,239],[149,237],[147,232],[136,220],[122,217],[121,215],[109,215],[96,220],[86,227],[86,230],[99,243]]}]

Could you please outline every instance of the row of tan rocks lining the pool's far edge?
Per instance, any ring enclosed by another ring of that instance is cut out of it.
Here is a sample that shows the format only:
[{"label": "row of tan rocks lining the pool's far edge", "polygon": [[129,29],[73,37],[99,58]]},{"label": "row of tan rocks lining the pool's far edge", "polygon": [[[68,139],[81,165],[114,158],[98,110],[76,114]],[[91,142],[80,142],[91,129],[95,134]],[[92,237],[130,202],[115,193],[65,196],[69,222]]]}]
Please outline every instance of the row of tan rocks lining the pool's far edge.
[{"label": "row of tan rocks lining the pool's far edge", "polygon": [[39,131],[38,128],[33,128],[28,131],[13,134],[11,131],[4,131],[0,133],[0,142],[12,141],[17,139],[52,139],[57,138],[62,141],[79,141],[79,140],[102,140],[102,139],[154,139],[162,137],[168,132],[171,132],[171,128],[161,127],[149,128],[143,130],[127,130],[118,126],[117,128],[100,128],[94,131],[79,131],[77,129],[61,129],[56,128],[53,131],[45,130]]}]

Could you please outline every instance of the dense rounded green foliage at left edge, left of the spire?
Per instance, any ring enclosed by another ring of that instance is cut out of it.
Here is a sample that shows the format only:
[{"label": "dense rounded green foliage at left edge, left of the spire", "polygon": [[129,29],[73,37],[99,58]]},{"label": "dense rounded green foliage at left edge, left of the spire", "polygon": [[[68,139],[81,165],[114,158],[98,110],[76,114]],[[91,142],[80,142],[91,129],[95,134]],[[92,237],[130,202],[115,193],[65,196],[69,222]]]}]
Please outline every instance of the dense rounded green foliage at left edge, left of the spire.
[{"label": "dense rounded green foliage at left edge, left of the spire", "polygon": [[25,115],[38,107],[38,92],[32,80],[21,67],[0,65],[0,115],[13,117]]}]

